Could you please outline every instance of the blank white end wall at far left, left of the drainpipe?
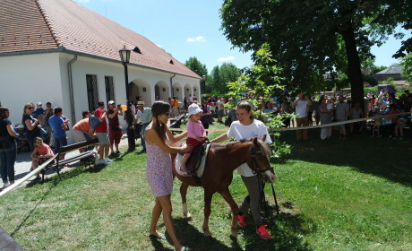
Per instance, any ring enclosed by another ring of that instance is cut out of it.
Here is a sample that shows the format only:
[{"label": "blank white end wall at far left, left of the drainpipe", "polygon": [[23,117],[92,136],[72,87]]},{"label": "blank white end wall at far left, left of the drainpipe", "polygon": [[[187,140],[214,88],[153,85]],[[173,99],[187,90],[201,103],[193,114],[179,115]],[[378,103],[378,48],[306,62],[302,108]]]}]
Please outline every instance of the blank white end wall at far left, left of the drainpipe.
[{"label": "blank white end wall at far left, left of the drainpipe", "polygon": [[0,56],[0,100],[13,125],[21,123],[26,103],[64,106],[58,53]]}]

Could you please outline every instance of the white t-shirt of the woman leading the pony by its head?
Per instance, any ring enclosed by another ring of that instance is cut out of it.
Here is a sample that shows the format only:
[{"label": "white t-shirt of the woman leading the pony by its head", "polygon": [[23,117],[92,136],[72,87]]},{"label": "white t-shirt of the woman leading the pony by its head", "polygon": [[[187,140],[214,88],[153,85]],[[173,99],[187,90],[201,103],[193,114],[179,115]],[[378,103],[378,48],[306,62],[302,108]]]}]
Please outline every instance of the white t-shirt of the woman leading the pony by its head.
[{"label": "white t-shirt of the woman leading the pony by its head", "polygon": [[[262,139],[264,135],[267,135],[265,143],[271,143],[270,135],[268,133],[266,125],[264,125],[262,121],[256,119],[253,119],[253,123],[251,125],[242,125],[239,121],[234,121],[227,131],[228,138],[236,138],[236,140],[238,141],[250,139],[253,137]],[[255,176],[255,174],[253,174],[252,172],[252,169],[249,168],[247,163],[240,165],[237,168],[237,173],[244,177]]]}]

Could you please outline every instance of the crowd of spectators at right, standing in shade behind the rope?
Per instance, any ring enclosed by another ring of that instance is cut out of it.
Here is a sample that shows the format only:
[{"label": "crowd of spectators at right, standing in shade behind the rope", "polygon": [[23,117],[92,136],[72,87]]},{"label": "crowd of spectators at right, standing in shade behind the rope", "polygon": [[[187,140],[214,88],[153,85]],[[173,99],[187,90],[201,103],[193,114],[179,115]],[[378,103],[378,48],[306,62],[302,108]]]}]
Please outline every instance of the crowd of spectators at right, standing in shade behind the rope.
[{"label": "crowd of spectators at right, standing in shade behind the rope", "polygon": [[[287,95],[282,98],[282,102],[268,101],[265,105],[264,112],[272,116],[278,114],[296,113],[296,119],[290,117],[283,118],[285,127],[301,127],[310,125],[327,125],[332,122],[341,122],[339,127],[339,138],[347,139],[348,132],[358,134],[366,128],[371,129],[372,137],[387,137],[394,139],[404,138],[404,128],[411,125],[410,112],[412,111],[412,95],[409,91],[405,91],[399,97],[394,93],[380,91],[379,95],[366,94],[365,103],[351,102],[348,95],[332,94],[320,95],[319,97],[311,97],[304,93],[299,93],[296,100],[293,100]],[[394,116],[398,113],[408,113],[399,116]],[[392,117],[378,117],[378,116]],[[373,117],[378,117],[374,119]],[[369,118],[365,120],[356,120],[359,118]],[[366,121],[368,120],[368,122]],[[295,124],[296,121],[296,124]],[[307,140],[308,129],[297,129],[296,139]],[[321,139],[330,139],[332,133],[331,126],[322,126]]]}]

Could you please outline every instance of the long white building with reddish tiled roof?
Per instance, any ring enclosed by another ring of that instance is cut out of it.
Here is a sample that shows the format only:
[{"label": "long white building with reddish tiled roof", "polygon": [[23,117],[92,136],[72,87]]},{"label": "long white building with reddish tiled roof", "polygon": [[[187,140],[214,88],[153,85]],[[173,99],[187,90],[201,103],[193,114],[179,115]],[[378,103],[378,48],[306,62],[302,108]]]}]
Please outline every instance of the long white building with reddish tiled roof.
[{"label": "long white building with reddish tiled roof", "polygon": [[47,101],[71,121],[98,101],[125,104],[119,50],[132,50],[130,100],[201,97],[202,78],[149,39],[71,0],[0,0],[0,101],[21,123],[23,106]]}]

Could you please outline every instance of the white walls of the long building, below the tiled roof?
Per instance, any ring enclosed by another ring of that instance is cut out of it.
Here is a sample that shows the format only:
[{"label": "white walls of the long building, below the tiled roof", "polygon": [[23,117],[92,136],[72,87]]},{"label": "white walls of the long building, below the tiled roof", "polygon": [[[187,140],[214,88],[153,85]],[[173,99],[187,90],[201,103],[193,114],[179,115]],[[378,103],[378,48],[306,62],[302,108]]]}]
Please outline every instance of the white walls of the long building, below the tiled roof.
[{"label": "white walls of the long building, below the tiled roof", "polygon": [[[110,62],[87,56],[78,56],[72,65],[73,75],[73,103],[75,117],[71,114],[69,95],[68,62],[73,59],[72,54],[48,53],[22,56],[0,56],[0,100],[4,107],[10,109],[10,118],[13,125],[21,123],[25,103],[46,102],[52,107],[62,107],[64,115],[71,119],[71,125],[82,118],[82,111],[89,108],[87,98],[86,74],[95,74],[98,79],[99,100],[107,101],[105,76],[112,76],[115,86],[115,99],[118,104],[126,103],[124,66],[120,62]],[[160,99],[167,100],[170,96],[169,74],[154,69],[135,65],[128,66],[129,82],[139,86],[140,95],[146,106],[150,107],[155,101],[154,86],[160,87]],[[175,95],[183,100],[183,84],[193,87],[199,86],[199,79],[176,75],[172,79],[174,88],[179,88]],[[146,91],[142,91],[142,87]],[[166,88],[166,93],[162,89]],[[197,93],[196,93],[197,94]],[[197,96],[197,95],[196,95]],[[121,118],[123,123],[123,119]]]}]

